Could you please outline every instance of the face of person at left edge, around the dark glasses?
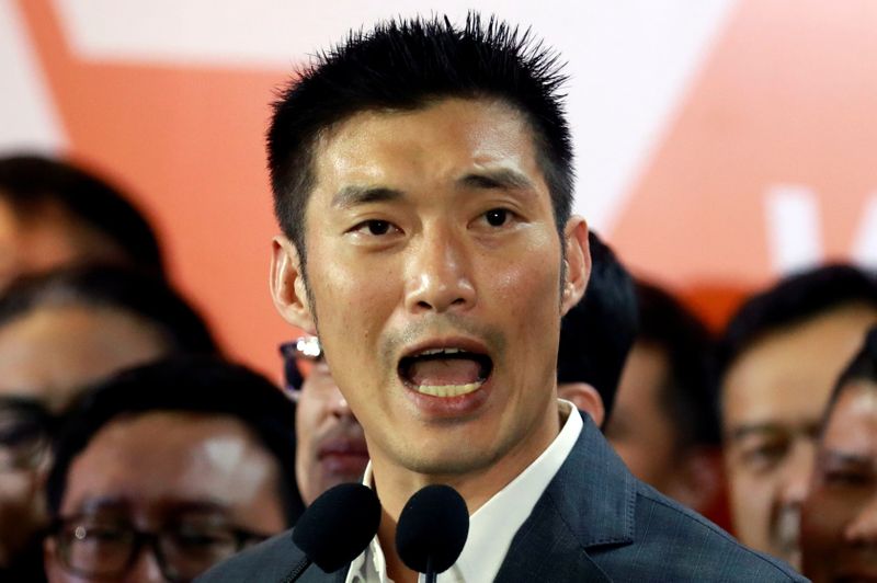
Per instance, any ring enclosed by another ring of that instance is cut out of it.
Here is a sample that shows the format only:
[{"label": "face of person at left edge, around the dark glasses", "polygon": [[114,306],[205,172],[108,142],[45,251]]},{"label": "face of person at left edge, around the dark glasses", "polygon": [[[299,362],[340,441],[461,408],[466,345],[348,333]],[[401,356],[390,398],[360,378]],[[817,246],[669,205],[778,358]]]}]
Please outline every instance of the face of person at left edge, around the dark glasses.
[{"label": "face of person at left edge, around the dark glasses", "polygon": [[[159,357],[164,341],[112,309],[38,309],[0,328],[0,395],[27,397],[60,412],[88,382]],[[0,564],[45,521],[47,465],[0,472]]]}]

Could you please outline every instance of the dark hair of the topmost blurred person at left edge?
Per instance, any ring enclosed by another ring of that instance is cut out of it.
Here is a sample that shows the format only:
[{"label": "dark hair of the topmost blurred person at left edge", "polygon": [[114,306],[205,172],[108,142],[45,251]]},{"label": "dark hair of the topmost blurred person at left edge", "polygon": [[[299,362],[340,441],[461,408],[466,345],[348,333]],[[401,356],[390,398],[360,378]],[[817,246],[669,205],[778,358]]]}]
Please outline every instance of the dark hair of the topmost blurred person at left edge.
[{"label": "dark hair of the topmost blurred person at left edge", "polygon": [[24,218],[57,203],[114,241],[132,264],[164,274],[158,239],[144,215],[116,186],[72,162],[35,155],[0,158],[0,199]]}]

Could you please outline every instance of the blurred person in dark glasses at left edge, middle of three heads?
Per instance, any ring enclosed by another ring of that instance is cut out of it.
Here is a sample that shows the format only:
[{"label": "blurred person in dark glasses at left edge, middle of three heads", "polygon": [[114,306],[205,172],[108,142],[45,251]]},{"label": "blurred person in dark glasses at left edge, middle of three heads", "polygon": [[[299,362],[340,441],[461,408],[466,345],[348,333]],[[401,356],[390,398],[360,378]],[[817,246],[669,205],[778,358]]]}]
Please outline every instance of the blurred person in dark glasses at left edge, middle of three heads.
[{"label": "blurred person in dark glasses at left edge, middle of three heads", "polygon": [[32,276],[0,295],[0,399],[15,405],[0,428],[5,573],[33,569],[33,538],[45,525],[45,444],[81,387],[170,354],[215,352],[206,324],[176,292],[124,267]]}]

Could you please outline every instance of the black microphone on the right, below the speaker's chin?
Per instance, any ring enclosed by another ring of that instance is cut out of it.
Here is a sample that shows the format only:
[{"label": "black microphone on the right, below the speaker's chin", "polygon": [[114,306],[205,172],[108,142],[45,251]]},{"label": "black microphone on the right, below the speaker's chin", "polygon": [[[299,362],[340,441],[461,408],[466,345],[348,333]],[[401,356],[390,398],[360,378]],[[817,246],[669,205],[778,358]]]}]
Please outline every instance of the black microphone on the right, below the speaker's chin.
[{"label": "black microphone on the right, below the speaker's chin", "polygon": [[409,569],[425,573],[426,583],[457,561],[469,536],[469,510],[449,485],[428,485],[402,508],[396,527],[396,550]]}]

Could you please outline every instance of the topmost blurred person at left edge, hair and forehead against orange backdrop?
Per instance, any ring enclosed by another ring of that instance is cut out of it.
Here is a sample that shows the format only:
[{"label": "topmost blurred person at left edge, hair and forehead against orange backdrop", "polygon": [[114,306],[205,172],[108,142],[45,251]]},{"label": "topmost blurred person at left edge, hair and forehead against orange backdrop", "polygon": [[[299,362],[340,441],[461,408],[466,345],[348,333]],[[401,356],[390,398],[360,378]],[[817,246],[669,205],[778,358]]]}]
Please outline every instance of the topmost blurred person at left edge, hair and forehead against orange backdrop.
[{"label": "topmost blurred person at left edge, hair and forehead against orange backdrop", "polygon": [[0,158],[0,289],[19,275],[86,263],[163,273],[152,228],[114,185],[60,159]]}]

